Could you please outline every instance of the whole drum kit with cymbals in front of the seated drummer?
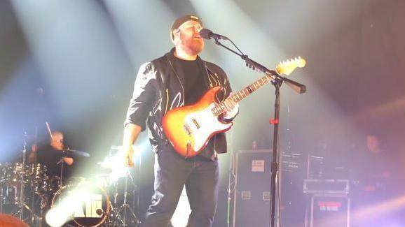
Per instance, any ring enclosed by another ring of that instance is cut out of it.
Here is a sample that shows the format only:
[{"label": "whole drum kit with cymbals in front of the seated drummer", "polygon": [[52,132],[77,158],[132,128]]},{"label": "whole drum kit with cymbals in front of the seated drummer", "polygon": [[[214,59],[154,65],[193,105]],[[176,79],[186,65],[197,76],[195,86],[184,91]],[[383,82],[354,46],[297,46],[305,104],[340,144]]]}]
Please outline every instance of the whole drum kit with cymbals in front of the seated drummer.
[{"label": "whole drum kit with cymbals in front of the seated drummer", "polygon": [[[90,156],[69,149],[62,152],[69,153]],[[135,194],[139,194],[130,171],[126,170],[121,181],[110,178],[103,174],[62,181],[62,173],[50,175],[41,163],[26,164],[24,147],[22,162],[0,163],[0,213],[13,214],[29,226],[138,226],[139,219],[131,208],[135,204],[128,201],[129,195],[135,201]],[[55,212],[51,210],[61,210],[57,207],[73,208],[62,210],[68,214],[66,221],[53,224]]]}]

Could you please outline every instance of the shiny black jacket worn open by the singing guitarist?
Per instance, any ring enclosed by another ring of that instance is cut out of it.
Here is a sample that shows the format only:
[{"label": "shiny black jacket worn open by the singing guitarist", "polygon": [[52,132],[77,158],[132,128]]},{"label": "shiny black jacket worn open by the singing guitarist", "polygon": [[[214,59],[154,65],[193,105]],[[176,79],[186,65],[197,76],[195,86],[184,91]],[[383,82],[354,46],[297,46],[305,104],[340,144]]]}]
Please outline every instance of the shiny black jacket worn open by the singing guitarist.
[{"label": "shiny black jacket worn open by the singing guitarist", "polygon": [[[172,150],[172,145],[165,138],[162,118],[168,110],[184,105],[184,75],[176,65],[174,48],[163,57],[143,64],[135,80],[134,93],[130,100],[124,125],[137,124],[142,131],[149,129],[149,140],[154,152]],[[200,68],[204,68],[205,87],[221,86],[224,89],[217,94],[217,101],[224,101],[231,93],[226,73],[217,65],[197,57]],[[147,122],[146,122],[147,120]],[[218,133],[211,138],[205,152],[200,155],[212,159],[216,153],[226,152],[225,133]]]}]

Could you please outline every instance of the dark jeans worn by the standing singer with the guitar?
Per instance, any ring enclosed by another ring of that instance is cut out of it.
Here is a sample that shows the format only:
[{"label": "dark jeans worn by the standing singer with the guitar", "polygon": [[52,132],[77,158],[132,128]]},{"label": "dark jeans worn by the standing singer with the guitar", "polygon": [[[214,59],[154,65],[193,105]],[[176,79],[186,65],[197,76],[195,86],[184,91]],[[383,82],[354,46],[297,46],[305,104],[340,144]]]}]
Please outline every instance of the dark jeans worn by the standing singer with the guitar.
[{"label": "dark jeans worn by the standing singer with the guitar", "polygon": [[155,192],[143,227],[166,227],[186,185],[189,227],[210,227],[217,207],[218,161],[200,156],[184,159],[174,152],[155,154]]}]

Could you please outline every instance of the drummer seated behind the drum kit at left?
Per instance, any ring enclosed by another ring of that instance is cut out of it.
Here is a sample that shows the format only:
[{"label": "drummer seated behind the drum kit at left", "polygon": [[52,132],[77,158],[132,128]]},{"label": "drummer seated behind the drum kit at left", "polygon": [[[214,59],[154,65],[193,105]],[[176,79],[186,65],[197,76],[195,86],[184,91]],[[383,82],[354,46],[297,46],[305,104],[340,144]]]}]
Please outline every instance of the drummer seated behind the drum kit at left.
[{"label": "drummer seated behind the drum kit at left", "polygon": [[67,166],[71,166],[74,163],[72,157],[65,156],[62,159],[63,149],[63,133],[53,131],[48,145],[41,149],[39,149],[37,145],[32,145],[32,152],[29,154],[29,163],[41,163],[48,168],[48,174],[59,175],[60,161],[63,161]]}]

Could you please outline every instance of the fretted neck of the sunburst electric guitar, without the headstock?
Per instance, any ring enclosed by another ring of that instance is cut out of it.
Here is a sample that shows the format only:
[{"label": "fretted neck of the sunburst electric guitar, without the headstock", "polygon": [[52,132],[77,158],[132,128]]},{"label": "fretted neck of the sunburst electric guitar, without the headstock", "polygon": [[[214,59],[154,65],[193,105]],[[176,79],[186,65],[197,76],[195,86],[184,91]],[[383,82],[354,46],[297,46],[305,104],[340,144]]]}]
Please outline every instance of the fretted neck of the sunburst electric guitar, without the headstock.
[{"label": "fretted neck of the sunburst electric guitar, without the headstock", "polygon": [[[253,82],[251,85],[248,85],[244,89],[236,92],[235,94],[232,94],[232,96],[230,96],[229,98],[232,98],[232,100],[235,103],[238,103],[243,98],[246,98],[247,96],[249,96],[249,94],[252,94],[254,91],[259,89],[263,85],[266,85],[268,82],[270,82],[272,80],[273,80],[273,78],[270,75],[265,75],[265,76],[263,76],[263,78],[260,78],[259,80],[256,80],[255,82]],[[212,113],[214,113],[214,115],[216,115],[216,116],[219,116],[224,112],[225,112],[224,102],[215,103],[214,108],[212,108]]]}]

